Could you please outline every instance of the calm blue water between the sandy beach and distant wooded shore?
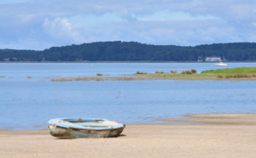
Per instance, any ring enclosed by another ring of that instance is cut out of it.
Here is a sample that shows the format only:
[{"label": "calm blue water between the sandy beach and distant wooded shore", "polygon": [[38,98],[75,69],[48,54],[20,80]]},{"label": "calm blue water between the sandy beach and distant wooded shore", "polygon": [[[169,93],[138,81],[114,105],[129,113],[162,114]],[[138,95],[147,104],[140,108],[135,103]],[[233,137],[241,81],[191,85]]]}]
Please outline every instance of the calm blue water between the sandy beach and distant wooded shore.
[{"label": "calm blue water between the sandy beach and distant wooded shore", "polygon": [[[198,113],[255,113],[254,81],[50,82],[62,76],[110,76],[137,71],[199,73],[256,63],[0,63],[0,129],[46,129],[51,118],[93,117],[157,123]],[[27,77],[27,76],[31,76]]]}]

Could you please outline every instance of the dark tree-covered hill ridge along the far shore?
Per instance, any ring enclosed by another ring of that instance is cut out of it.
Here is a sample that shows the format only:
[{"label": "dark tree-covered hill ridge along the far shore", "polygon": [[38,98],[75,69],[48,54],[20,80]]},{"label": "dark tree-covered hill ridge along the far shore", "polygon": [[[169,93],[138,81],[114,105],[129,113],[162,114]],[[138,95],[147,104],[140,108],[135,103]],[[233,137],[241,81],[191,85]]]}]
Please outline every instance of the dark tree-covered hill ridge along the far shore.
[{"label": "dark tree-covered hill ridge along the far shore", "polygon": [[2,61],[197,61],[198,57],[256,61],[256,42],[181,47],[118,41],[53,47],[44,51],[0,49]]}]

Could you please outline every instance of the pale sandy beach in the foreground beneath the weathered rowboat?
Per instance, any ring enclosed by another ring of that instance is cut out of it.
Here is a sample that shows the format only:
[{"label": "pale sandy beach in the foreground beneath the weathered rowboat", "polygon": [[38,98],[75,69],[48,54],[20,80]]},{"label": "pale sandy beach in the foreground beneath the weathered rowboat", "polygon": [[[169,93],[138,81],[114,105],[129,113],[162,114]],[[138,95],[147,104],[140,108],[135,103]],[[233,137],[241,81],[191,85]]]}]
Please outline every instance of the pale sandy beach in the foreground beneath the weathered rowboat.
[{"label": "pale sandy beach in the foreground beneath the weathered rowboat", "polygon": [[[183,119],[161,121],[167,123],[126,125],[118,138],[59,139],[49,135],[48,130],[0,130],[0,155],[256,157],[256,114],[189,115]],[[176,124],[173,121],[198,123]]]}]

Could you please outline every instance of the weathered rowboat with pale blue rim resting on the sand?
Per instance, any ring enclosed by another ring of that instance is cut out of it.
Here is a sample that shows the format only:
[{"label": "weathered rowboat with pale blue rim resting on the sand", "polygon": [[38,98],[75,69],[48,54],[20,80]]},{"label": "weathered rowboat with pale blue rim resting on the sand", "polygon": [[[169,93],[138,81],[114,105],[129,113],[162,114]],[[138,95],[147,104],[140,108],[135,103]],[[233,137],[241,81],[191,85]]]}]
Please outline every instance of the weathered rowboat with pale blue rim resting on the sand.
[{"label": "weathered rowboat with pale blue rim resting on the sand", "polygon": [[48,121],[49,133],[56,138],[110,138],[119,136],[125,125],[106,119],[62,119]]}]

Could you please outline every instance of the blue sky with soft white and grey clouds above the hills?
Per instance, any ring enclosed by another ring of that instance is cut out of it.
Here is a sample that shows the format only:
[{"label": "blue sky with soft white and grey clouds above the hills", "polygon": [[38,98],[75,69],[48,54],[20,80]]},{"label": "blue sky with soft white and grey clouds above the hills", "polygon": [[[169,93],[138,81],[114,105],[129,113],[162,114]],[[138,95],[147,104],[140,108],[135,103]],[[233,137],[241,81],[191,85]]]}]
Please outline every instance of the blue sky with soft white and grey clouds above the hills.
[{"label": "blue sky with soft white and grey clouds above the hills", "polygon": [[0,0],[0,48],[256,42],[255,0]]}]

